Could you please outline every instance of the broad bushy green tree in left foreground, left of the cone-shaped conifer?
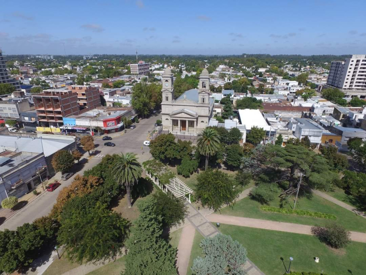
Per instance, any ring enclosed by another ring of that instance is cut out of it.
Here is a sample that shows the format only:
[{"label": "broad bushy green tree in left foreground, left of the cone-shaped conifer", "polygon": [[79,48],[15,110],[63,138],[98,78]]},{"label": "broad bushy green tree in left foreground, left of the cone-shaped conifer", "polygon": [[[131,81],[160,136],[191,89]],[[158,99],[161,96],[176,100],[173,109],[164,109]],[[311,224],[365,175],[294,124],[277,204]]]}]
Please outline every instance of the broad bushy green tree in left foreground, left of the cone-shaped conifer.
[{"label": "broad bushy green tree in left foreground, left of the cone-shaped conifer", "polygon": [[71,218],[61,219],[57,240],[72,261],[107,260],[121,252],[127,225],[119,213],[98,202],[93,209],[75,209]]}]

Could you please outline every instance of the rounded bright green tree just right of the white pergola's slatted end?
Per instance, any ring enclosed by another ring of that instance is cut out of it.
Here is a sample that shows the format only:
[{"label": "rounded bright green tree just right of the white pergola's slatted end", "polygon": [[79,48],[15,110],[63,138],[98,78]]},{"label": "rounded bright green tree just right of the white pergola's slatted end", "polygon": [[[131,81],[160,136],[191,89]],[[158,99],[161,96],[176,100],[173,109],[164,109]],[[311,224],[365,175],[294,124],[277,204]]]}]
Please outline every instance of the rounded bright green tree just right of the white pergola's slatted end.
[{"label": "rounded bright green tree just right of the white pergola's slatted end", "polygon": [[195,194],[201,199],[202,205],[217,211],[223,205],[230,205],[238,197],[240,188],[236,181],[219,169],[206,170],[197,176]]}]

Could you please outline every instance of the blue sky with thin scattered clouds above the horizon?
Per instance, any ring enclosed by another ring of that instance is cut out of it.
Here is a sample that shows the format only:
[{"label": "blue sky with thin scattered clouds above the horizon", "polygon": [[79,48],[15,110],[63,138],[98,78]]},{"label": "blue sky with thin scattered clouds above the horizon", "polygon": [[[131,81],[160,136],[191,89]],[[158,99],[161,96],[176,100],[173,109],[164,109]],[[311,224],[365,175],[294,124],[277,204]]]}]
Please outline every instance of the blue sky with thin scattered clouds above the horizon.
[{"label": "blue sky with thin scattered clouds above the horizon", "polygon": [[1,10],[5,54],[366,53],[364,0],[18,0]]}]

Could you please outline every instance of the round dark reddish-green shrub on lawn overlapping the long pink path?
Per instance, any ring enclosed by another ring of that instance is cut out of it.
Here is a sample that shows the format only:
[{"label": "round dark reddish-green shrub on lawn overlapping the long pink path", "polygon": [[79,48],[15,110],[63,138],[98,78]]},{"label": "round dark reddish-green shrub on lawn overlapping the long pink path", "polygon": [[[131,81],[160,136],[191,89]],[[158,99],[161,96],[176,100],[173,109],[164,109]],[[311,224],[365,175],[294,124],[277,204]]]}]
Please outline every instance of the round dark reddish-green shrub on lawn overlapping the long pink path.
[{"label": "round dark reddish-green shrub on lawn overlapping the long pink path", "polygon": [[311,233],[334,248],[344,247],[351,241],[351,233],[336,223],[329,223],[325,227],[313,226]]}]

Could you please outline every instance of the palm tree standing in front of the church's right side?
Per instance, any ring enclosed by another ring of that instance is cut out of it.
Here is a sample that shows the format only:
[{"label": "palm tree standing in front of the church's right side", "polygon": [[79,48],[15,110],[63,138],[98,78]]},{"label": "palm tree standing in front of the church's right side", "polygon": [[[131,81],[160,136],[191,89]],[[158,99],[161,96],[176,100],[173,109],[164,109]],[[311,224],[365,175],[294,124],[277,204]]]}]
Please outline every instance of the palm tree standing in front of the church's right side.
[{"label": "palm tree standing in front of the church's right side", "polygon": [[206,157],[205,170],[208,167],[208,158],[216,154],[220,145],[219,134],[213,128],[206,128],[198,134],[197,148],[201,155]]}]

